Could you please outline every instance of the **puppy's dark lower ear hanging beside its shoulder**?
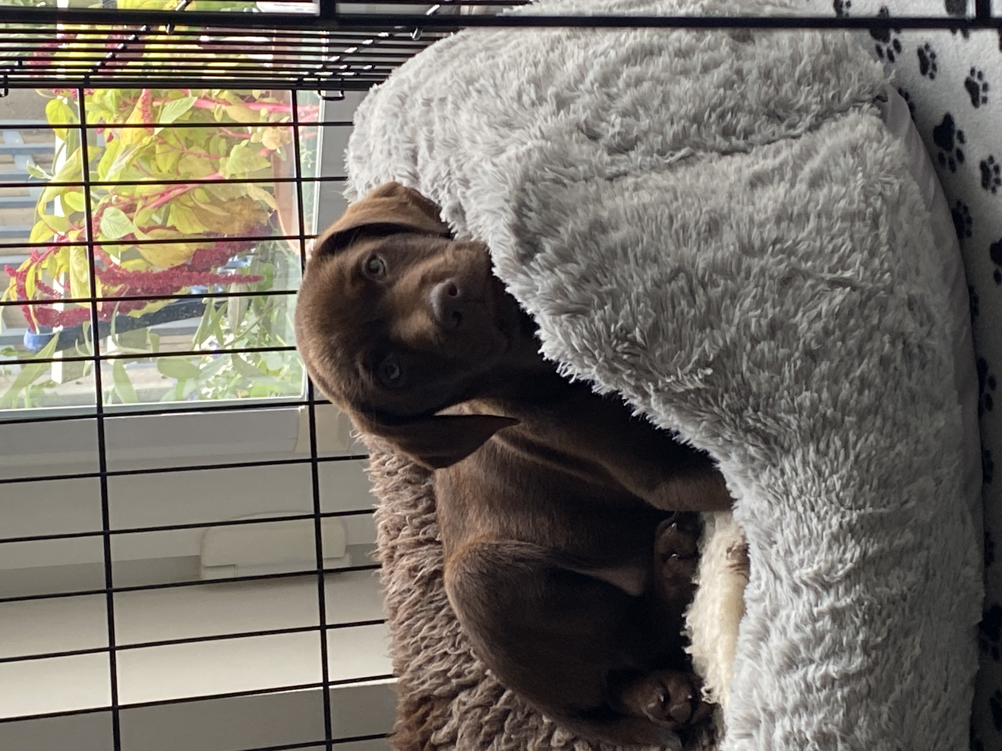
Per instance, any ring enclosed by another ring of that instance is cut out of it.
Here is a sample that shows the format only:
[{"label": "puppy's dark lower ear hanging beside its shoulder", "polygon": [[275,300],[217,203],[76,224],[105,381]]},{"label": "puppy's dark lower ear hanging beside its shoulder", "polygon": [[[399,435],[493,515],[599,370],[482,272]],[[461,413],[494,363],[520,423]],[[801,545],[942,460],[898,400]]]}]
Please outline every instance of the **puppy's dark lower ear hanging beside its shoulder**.
[{"label": "puppy's dark lower ear hanging beside its shoulder", "polygon": [[466,459],[498,431],[518,425],[514,418],[497,415],[433,415],[396,425],[353,418],[360,430],[386,439],[429,470]]}]

